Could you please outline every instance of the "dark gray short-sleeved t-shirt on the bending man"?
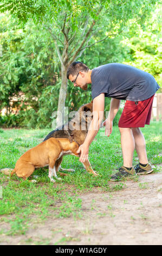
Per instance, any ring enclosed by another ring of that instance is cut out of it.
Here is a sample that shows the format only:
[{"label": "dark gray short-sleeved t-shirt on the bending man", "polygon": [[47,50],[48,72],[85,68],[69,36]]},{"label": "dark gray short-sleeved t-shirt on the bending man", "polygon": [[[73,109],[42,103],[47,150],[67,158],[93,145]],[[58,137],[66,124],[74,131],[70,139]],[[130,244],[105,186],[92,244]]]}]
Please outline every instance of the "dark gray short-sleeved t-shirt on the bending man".
[{"label": "dark gray short-sleeved t-shirt on the bending man", "polygon": [[120,100],[146,100],[160,88],[155,78],[133,66],[109,63],[92,70],[92,99],[105,93]]}]

